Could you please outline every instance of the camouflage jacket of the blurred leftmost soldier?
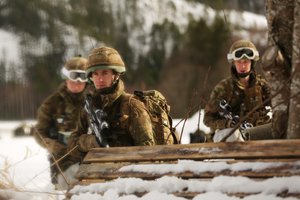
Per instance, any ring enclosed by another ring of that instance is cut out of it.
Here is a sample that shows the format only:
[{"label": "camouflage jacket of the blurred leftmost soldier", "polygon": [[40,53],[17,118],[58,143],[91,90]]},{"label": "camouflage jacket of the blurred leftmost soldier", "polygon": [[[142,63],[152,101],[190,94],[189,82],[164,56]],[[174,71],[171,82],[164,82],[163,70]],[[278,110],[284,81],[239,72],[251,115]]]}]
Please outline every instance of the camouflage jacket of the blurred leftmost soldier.
[{"label": "camouflage jacket of the blurred leftmost soldier", "polygon": [[[33,135],[43,147],[46,147],[46,140],[51,141],[52,153],[56,158],[67,153],[67,139],[76,128],[82,105],[83,92],[80,94],[68,92],[64,82],[43,101],[37,111],[37,125]],[[60,164],[63,166],[64,160]],[[67,167],[67,164],[65,166]]]}]

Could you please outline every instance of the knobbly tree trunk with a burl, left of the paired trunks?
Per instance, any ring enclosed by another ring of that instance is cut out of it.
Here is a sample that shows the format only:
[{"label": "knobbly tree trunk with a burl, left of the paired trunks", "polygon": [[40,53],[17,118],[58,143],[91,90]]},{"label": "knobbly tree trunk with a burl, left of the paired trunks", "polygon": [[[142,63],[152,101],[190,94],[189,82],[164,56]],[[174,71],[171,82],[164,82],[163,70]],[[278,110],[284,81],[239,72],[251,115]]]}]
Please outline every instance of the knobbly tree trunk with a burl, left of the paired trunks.
[{"label": "knobbly tree trunk with a burl, left of the paired trunks", "polygon": [[262,57],[262,69],[270,83],[274,138],[287,135],[294,0],[267,0],[269,48]]}]

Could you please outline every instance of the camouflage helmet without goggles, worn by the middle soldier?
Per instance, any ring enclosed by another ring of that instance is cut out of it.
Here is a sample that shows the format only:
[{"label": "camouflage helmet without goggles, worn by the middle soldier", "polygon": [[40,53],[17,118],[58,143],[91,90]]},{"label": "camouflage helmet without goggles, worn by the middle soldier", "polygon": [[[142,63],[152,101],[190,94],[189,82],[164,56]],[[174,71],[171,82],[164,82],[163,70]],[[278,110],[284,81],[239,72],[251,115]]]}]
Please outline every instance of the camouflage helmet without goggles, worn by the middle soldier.
[{"label": "camouflage helmet without goggles, worn by the middle soldier", "polygon": [[117,73],[126,71],[125,64],[117,50],[111,47],[99,47],[92,50],[88,57],[87,76],[97,69],[112,69]]}]

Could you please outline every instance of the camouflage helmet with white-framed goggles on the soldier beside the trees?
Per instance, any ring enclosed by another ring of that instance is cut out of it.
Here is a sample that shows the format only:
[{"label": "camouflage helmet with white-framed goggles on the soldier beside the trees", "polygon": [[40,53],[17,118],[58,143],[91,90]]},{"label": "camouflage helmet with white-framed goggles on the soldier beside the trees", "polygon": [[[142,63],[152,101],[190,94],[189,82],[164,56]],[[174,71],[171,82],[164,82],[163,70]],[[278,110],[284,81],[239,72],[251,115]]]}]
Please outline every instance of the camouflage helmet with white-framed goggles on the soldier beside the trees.
[{"label": "camouflage helmet with white-framed goggles on the soldier beside the trees", "polygon": [[259,53],[255,45],[249,40],[238,40],[234,42],[227,54],[227,60],[232,63],[234,60],[240,60],[242,58],[248,58],[249,60],[258,61]]}]

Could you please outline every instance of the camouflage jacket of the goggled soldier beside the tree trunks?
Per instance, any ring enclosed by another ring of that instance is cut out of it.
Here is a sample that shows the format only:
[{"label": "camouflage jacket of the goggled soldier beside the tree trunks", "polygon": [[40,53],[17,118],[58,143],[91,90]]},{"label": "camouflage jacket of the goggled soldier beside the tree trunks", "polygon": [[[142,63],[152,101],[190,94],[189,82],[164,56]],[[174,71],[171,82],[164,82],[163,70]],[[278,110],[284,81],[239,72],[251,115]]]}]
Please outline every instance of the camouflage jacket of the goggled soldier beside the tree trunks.
[{"label": "camouflage jacket of the goggled soldier beside the tree trunks", "polygon": [[269,123],[270,117],[267,115],[266,106],[271,106],[270,95],[267,82],[261,76],[256,75],[255,71],[250,74],[250,87],[246,89],[239,87],[238,78],[232,72],[231,77],[219,82],[211,92],[210,99],[205,106],[204,123],[212,129],[212,132],[228,128],[226,127],[227,119],[219,114],[219,103],[222,99],[231,106],[232,114],[238,115],[240,119],[257,105],[262,105],[246,121],[254,126]]}]

